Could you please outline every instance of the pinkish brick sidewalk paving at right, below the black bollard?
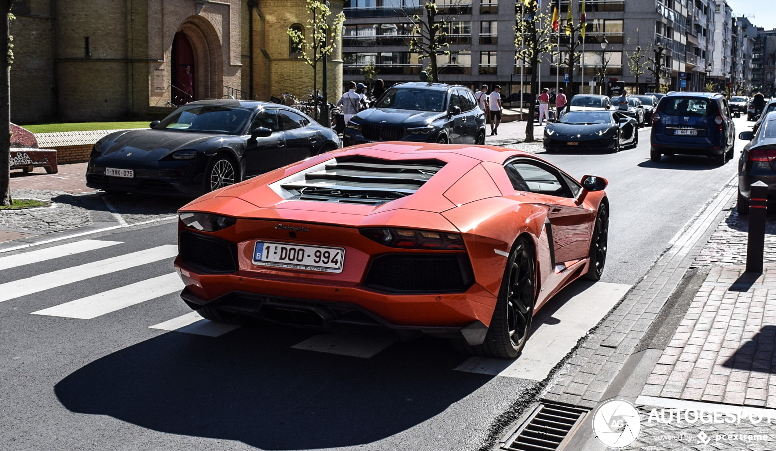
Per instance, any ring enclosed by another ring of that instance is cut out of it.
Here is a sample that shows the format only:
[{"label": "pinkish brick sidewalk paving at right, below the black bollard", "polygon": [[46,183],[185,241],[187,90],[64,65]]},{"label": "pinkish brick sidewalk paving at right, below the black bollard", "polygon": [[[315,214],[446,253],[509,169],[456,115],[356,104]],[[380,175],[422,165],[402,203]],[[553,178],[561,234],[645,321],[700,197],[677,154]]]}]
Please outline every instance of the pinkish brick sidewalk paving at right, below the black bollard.
[{"label": "pinkish brick sidewalk paving at right, below the black bollard", "polygon": [[709,272],[643,395],[776,408],[776,264],[743,271]]}]

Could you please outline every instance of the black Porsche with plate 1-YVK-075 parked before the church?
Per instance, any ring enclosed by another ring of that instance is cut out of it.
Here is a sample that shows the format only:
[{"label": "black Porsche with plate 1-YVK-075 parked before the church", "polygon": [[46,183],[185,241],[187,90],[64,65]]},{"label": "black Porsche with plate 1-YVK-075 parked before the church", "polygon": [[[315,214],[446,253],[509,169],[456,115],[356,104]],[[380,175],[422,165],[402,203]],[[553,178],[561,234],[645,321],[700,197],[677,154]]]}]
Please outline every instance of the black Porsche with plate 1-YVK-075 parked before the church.
[{"label": "black Porsche with plate 1-YVK-075 parked before the church", "polygon": [[202,194],[341,147],[334,130],[268,102],[201,100],[103,137],[86,186],[114,193]]}]

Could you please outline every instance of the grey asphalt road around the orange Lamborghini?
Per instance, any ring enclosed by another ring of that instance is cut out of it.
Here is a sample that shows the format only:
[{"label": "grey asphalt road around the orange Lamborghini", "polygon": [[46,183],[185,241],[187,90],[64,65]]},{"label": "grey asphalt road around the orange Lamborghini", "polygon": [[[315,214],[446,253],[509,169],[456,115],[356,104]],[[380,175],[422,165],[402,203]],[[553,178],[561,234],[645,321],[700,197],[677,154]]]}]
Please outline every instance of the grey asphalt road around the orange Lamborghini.
[{"label": "grey asphalt road around the orange Lamborghini", "polygon": [[[542,154],[609,180],[612,286],[635,283],[734,172],[734,162],[705,158],[650,163],[641,131],[642,144],[619,154]],[[171,273],[163,246],[175,244],[175,224],[88,238],[115,243],[79,241],[73,255],[39,262],[30,251],[0,254],[22,258],[0,259],[0,449],[479,449],[494,419],[536,387],[456,371],[466,356],[431,338],[360,358],[299,349],[317,337],[310,331],[186,326],[190,310],[171,290],[100,312],[106,300],[88,302],[100,293],[129,299]],[[130,254],[136,266],[110,269]],[[79,265],[103,274],[68,283]],[[63,313],[79,309],[101,314]]]}]

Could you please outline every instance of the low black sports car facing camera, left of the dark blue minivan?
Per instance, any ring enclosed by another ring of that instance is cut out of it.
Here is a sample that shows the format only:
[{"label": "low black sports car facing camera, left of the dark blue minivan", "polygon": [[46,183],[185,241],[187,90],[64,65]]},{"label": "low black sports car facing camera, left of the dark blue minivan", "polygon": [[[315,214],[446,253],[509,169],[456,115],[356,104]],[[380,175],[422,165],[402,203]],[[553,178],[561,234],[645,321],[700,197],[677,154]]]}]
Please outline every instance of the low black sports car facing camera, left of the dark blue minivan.
[{"label": "low black sports car facing camera, left of the dark blue minivan", "polygon": [[639,124],[618,111],[571,111],[544,129],[548,152],[584,149],[617,152],[639,144]]}]

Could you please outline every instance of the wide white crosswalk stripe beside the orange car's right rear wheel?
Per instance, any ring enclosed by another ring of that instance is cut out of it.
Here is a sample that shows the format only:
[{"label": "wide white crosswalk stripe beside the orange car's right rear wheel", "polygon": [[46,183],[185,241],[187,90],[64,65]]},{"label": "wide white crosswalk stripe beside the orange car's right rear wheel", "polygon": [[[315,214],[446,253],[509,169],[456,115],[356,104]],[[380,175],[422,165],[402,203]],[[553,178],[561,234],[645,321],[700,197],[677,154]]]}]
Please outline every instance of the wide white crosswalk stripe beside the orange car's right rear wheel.
[{"label": "wide white crosswalk stripe beside the orange car's right rear wheel", "polygon": [[[628,293],[630,287],[622,283],[598,282],[590,285],[576,282],[539,310],[534,317],[534,331],[518,359],[470,357],[456,369],[468,373],[544,380],[579,339]],[[547,321],[547,312],[553,309],[553,304],[559,305],[552,313],[555,321]]]}]

